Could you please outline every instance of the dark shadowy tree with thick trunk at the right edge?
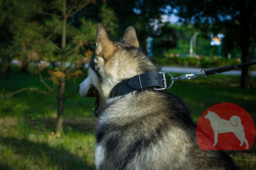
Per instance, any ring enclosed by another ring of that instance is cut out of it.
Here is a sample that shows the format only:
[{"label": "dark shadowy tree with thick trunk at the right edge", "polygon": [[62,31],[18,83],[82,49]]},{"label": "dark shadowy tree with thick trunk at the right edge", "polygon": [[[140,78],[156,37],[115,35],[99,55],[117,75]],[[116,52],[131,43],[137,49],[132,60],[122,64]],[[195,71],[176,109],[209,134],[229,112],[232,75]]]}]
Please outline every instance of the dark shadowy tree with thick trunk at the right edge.
[{"label": "dark shadowy tree with thick trunk at the right edge", "polygon": [[[225,34],[223,48],[231,51],[240,47],[242,62],[251,61],[256,42],[256,1],[175,0],[170,5],[177,9],[181,22],[194,25],[205,35]],[[251,86],[250,68],[242,68],[241,87]]]}]

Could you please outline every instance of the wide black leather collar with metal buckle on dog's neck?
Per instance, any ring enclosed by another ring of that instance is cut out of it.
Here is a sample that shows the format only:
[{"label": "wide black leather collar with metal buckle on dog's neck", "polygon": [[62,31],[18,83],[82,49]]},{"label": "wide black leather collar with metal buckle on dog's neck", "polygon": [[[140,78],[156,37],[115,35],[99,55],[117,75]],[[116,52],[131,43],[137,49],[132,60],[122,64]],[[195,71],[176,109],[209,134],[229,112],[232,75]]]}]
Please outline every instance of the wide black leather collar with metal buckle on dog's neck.
[{"label": "wide black leather collar with metal buckle on dog's neck", "polygon": [[124,95],[133,91],[145,89],[162,89],[166,88],[165,77],[162,72],[146,72],[141,75],[125,79],[114,86],[111,90],[111,97]]}]

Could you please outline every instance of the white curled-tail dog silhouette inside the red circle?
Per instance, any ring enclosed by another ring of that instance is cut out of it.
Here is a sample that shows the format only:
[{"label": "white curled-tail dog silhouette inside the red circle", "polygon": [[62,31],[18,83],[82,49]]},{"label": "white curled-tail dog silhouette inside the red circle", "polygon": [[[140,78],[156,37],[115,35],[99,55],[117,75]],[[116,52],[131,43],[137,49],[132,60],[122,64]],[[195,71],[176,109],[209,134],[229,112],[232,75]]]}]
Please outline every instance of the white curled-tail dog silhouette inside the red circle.
[{"label": "white curled-tail dog silhouette inside the red circle", "polygon": [[204,117],[210,120],[211,128],[214,130],[213,146],[217,144],[219,133],[233,132],[241,142],[239,144],[240,147],[242,147],[245,142],[245,149],[249,148],[248,141],[245,138],[244,127],[241,124],[241,118],[239,116],[232,116],[229,120],[225,120],[220,118],[215,112],[208,111],[207,115]]}]

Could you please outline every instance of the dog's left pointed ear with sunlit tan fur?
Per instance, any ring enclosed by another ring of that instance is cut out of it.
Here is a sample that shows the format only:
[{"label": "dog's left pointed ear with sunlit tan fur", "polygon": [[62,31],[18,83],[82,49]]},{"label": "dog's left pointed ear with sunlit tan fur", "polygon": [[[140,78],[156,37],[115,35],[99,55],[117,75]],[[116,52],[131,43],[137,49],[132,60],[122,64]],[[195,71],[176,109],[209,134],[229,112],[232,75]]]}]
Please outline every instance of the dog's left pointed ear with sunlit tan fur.
[{"label": "dog's left pointed ear with sunlit tan fur", "polygon": [[97,28],[97,35],[96,35],[97,56],[101,56],[104,59],[107,59],[110,56],[112,56],[114,51],[115,51],[114,43],[110,40],[104,26],[101,23],[99,23]]}]

